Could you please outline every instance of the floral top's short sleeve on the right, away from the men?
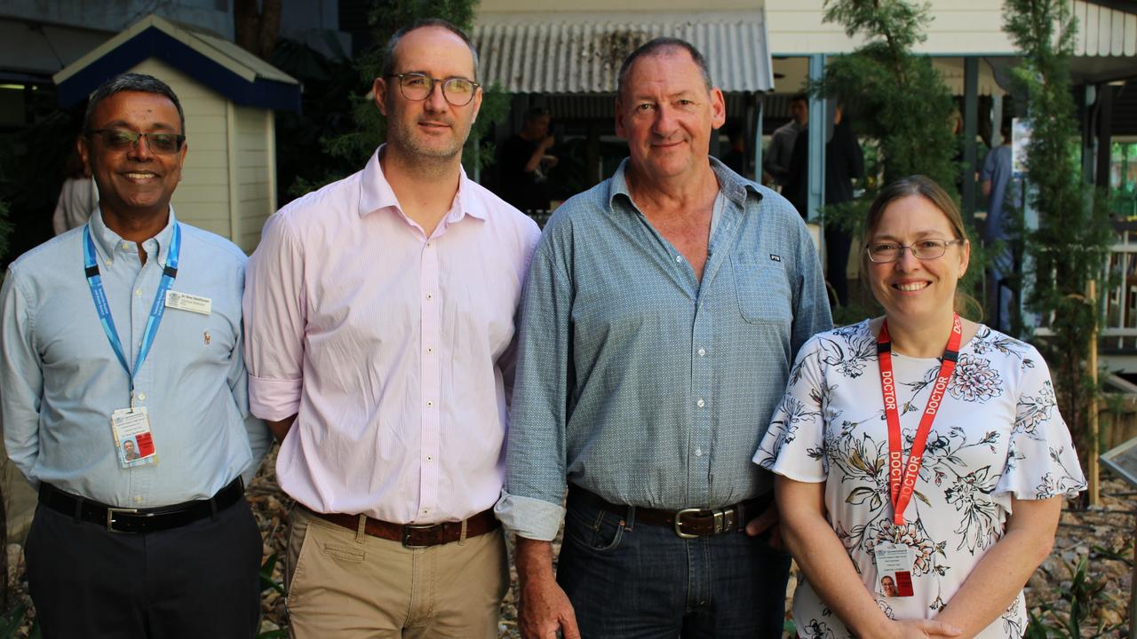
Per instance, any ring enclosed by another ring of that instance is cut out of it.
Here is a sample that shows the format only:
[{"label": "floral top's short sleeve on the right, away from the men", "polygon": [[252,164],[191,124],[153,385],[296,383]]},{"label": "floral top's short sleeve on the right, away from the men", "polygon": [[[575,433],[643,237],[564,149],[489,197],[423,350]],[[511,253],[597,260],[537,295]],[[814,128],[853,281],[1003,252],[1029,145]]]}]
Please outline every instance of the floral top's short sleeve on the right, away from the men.
[{"label": "floral top's short sleeve on the right, away from the men", "polygon": [[1037,351],[1030,360],[1034,365],[1023,370],[1006,465],[995,492],[1016,499],[1074,497],[1086,489],[1086,478],[1059,414],[1049,368]]}]

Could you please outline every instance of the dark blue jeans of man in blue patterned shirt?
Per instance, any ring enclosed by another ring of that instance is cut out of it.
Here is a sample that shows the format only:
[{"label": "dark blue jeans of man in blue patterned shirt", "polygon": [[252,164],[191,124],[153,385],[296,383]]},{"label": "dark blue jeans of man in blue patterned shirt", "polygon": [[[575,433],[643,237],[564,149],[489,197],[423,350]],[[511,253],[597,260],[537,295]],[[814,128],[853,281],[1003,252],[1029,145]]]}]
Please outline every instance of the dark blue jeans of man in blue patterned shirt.
[{"label": "dark blue jeans of man in blue patterned shirt", "polygon": [[782,636],[790,556],[766,536],[682,539],[674,529],[568,499],[557,582],[581,637]]}]

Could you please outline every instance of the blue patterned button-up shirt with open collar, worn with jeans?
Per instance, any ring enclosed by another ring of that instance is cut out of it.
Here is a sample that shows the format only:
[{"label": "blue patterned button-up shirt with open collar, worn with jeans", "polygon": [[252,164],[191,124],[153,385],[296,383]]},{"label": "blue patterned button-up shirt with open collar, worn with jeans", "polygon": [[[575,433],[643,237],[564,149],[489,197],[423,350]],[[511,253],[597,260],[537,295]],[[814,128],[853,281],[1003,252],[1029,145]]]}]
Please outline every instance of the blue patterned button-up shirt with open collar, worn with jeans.
[{"label": "blue patterned button-up shirt with open collar, worn with jeans", "polygon": [[711,164],[721,209],[702,282],[637,209],[626,160],[546,226],[522,296],[497,506],[522,537],[553,539],[566,479],[671,509],[770,489],[750,457],[797,349],[832,321],[797,211]]}]

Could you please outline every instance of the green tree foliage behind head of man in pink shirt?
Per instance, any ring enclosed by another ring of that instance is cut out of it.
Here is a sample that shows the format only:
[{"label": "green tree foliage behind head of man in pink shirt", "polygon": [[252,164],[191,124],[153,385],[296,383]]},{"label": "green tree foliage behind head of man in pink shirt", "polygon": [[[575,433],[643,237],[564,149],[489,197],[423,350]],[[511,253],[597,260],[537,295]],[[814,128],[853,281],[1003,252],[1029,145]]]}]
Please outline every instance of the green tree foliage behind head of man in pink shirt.
[{"label": "green tree foliage behind head of man in pink shirt", "polygon": [[[351,97],[350,113],[355,130],[324,140],[325,151],[335,165],[362,167],[371,153],[387,139],[387,122],[372,97],[372,84],[383,66],[387,41],[399,28],[420,19],[442,18],[466,33],[474,24],[478,0],[374,0],[368,20],[373,27],[374,45],[358,57],[355,64],[359,91]],[[470,131],[463,149],[463,164],[467,169],[483,166],[492,158],[492,149],[478,147],[495,122],[508,110],[508,94],[497,86],[482,88],[482,107]],[[342,175],[331,175],[325,182]]]}]

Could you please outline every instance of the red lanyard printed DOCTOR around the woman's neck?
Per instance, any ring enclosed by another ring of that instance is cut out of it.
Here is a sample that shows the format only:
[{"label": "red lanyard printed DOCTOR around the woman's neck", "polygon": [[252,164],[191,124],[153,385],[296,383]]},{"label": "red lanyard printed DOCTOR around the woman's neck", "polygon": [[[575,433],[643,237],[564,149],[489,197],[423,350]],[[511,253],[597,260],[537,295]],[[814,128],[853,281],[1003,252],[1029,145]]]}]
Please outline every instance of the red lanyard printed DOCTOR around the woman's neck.
[{"label": "red lanyard printed DOCTOR around the woman's neck", "polygon": [[912,500],[912,491],[915,489],[916,476],[920,473],[920,463],[923,459],[924,447],[928,445],[928,433],[931,432],[931,423],[936,420],[940,400],[944,399],[944,391],[947,390],[947,382],[952,380],[955,362],[960,357],[960,340],[963,338],[963,329],[960,325],[958,315],[952,320],[952,334],[947,338],[947,346],[944,347],[944,359],[939,365],[939,375],[936,376],[936,383],[931,387],[928,407],[920,416],[920,426],[912,441],[907,464],[903,459],[902,447],[904,442],[901,435],[901,414],[896,408],[896,381],[893,377],[893,340],[888,334],[887,320],[881,324],[880,334],[877,335],[880,392],[885,396],[885,418],[888,421],[888,488],[893,500],[893,523],[896,525],[904,525],[904,509]]}]

